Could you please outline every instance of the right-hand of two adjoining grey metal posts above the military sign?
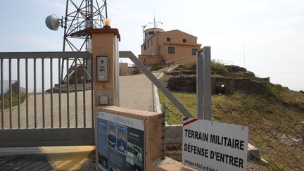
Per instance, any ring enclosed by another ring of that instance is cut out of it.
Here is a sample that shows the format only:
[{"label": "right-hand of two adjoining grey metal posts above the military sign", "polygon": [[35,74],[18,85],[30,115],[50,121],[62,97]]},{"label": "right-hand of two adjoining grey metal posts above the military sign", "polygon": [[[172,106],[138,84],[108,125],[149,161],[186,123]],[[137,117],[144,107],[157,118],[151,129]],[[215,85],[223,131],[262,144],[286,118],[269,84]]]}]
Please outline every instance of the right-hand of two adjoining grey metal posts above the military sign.
[{"label": "right-hand of two adjoining grey metal posts above the military sign", "polygon": [[203,114],[211,120],[211,55],[210,46],[203,47]]}]

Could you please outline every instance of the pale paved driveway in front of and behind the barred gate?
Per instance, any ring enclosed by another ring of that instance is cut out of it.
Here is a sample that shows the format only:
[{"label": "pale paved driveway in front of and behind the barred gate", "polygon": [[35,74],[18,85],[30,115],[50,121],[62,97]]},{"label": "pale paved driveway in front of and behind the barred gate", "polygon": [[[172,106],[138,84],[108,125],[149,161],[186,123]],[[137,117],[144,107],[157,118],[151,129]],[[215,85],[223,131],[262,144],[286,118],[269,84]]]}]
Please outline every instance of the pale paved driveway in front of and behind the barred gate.
[{"label": "pale paved driveway in front of and behind the barred gate", "polygon": [[[156,77],[160,72],[154,73]],[[153,90],[152,83],[143,75],[128,75],[120,77],[120,106],[138,110],[153,111]],[[58,110],[58,94],[54,94],[54,113]],[[75,113],[75,93],[70,93],[70,113]],[[82,91],[77,94],[79,103],[78,113],[80,118],[79,125],[82,126]],[[86,103],[90,115],[91,96],[90,91],[86,92]],[[30,96],[30,113],[33,113],[34,97]],[[62,94],[62,115],[63,126],[66,125],[66,94]],[[46,120],[50,118],[50,96],[45,95]],[[21,108],[21,127],[25,127],[25,104]],[[37,95],[37,111],[42,110],[42,95]],[[17,108],[13,108],[13,127],[17,126]],[[6,110],[5,118],[8,117]],[[30,115],[32,119],[33,116]],[[71,121],[74,116],[71,115]],[[37,115],[38,127],[42,127],[42,116]],[[7,123],[7,120],[4,120]],[[90,120],[87,120],[89,125]],[[30,127],[33,122],[30,120]],[[46,121],[46,127],[49,127],[49,121]],[[71,122],[73,127],[75,122]],[[54,126],[58,126],[58,115],[54,115]],[[5,127],[8,127],[6,124]],[[32,147],[32,148],[0,148],[0,170],[94,170],[94,146],[65,146],[65,147]],[[47,155],[45,155],[47,154]]]}]

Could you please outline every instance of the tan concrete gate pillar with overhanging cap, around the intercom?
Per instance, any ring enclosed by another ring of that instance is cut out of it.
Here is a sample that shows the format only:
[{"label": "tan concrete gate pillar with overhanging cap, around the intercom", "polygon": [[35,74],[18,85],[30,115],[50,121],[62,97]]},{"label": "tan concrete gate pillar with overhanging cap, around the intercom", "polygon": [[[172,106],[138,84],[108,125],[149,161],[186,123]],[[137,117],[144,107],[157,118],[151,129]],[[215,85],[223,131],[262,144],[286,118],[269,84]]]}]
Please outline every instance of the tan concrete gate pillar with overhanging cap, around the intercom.
[{"label": "tan concrete gate pillar with overhanging cap, around the intercom", "polygon": [[[93,53],[93,75],[94,75],[94,99],[95,106],[116,106],[118,105],[118,40],[120,34],[118,29],[87,29],[92,37]],[[97,58],[96,56],[108,56],[108,81],[97,81]],[[116,83],[116,84],[115,84]],[[105,103],[108,100],[108,103]]]}]

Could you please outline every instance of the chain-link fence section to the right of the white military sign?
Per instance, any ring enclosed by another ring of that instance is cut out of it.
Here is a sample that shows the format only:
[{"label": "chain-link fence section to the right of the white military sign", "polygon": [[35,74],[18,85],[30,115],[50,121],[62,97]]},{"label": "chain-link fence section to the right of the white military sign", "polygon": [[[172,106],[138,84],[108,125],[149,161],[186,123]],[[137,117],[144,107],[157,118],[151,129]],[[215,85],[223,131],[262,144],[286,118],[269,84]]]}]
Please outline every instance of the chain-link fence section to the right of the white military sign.
[{"label": "chain-link fence section to the right of the white military sign", "polygon": [[265,170],[304,170],[304,142],[301,122],[248,125],[249,156]]}]

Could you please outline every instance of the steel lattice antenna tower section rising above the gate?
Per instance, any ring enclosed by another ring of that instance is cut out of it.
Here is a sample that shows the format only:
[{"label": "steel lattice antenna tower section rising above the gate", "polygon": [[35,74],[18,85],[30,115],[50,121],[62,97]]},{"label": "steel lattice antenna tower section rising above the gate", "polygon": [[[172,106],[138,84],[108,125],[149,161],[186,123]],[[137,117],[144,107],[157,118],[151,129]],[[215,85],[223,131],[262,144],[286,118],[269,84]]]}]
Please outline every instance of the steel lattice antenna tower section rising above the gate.
[{"label": "steel lattice antenna tower section rising above the gate", "polygon": [[86,28],[102,28],[108,18],[106,0],[67,0],[62,19],[63,51],[89,51]]}]

